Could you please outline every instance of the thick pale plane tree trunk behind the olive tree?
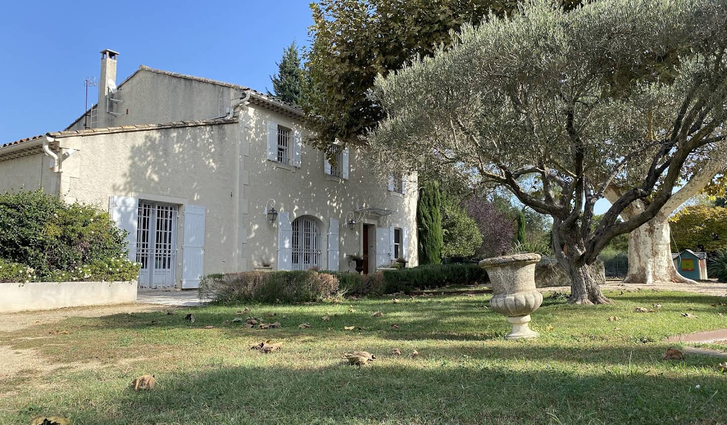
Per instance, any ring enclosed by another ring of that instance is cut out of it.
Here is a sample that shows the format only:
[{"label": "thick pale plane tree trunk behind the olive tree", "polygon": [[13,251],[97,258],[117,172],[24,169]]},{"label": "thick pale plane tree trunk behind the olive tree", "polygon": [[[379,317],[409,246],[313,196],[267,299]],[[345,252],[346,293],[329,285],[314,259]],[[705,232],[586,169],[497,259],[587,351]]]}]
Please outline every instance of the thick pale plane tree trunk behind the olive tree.
[{"label": "thick pale plane tree trunk behind the olive tree", "polygon": [[624,283],[696,283],[677,272],[672,261],[668,217],[659,213],[629,234],[629,271]]}]

